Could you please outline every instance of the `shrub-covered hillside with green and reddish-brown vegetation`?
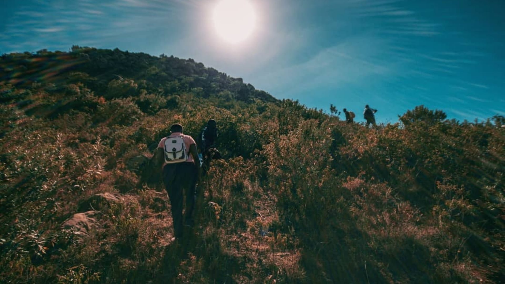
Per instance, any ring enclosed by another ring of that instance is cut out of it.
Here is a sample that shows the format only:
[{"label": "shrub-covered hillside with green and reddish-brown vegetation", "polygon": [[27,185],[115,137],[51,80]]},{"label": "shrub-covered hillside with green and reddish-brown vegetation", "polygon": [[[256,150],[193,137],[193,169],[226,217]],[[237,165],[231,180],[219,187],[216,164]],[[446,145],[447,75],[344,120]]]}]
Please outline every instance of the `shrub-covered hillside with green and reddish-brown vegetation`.
[{"label": "shrub-covered hillside with green and reddish-brown vegetation", "polygon": [[[2,283],[505,281],[501,116],[368,129],[191,59],[73,46],[3,55],[0,117]],[[144,157],[209,118],[224,159],[175,245]]]}]

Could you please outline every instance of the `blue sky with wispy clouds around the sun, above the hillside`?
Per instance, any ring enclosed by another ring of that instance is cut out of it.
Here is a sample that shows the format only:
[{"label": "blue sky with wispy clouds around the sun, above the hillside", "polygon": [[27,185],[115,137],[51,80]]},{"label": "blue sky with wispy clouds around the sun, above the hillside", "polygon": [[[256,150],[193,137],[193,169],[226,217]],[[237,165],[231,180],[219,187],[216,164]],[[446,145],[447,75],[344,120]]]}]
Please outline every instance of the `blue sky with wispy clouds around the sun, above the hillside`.
[{"label": "blue sky with wispy clouds around the sun, above the hillside", "polygon": [[0,54],[73,44],[193,58],[278,99],[379,122],[425,105],[448,118],[505,115],[503,0],[250,0],[257,29],[231,45],[216,1],[2,0]]}]

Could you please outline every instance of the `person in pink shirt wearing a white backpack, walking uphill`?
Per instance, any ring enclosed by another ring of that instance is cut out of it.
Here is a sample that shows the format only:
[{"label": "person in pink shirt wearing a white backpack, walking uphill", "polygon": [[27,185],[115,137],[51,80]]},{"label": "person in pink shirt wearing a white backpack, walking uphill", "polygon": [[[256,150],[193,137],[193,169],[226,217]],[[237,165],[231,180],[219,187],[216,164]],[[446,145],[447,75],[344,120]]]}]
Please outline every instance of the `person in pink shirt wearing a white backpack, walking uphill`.
[{"label": "person in pink shirt wearing a white backpack, walking uphill", "polygon": [[[198,151],[194,139],[182,134],[180,124],[170,127],[171,134],[162,138],[158,144],[156,161],[163,164],[163,183],[172,205],[174,238],[183,235],[183,224],[193,226],[193,209],[195,205],[196,182],[200,180],[201,169],[198,162]],[[183,193],[186,194],[186,212],[182,219]]]}]

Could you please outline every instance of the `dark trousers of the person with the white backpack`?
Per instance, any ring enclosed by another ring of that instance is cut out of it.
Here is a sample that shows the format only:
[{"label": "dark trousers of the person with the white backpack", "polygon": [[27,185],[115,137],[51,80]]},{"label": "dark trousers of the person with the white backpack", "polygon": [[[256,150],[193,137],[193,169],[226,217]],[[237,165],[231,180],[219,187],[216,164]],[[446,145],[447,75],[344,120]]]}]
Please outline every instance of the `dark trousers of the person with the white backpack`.
[{"label": "dark trousers of the person with the white backpack", "polygon": [[174,221],[174,235],[176,238],[180,238],[183,231],[183,189],[186,193],[186,214],[184,223],[186,225],[193,224],[196,180],[196,167],[192,162],[167,164],[163,168],[163,183],[165,184],[172,206],[172,219]]}]

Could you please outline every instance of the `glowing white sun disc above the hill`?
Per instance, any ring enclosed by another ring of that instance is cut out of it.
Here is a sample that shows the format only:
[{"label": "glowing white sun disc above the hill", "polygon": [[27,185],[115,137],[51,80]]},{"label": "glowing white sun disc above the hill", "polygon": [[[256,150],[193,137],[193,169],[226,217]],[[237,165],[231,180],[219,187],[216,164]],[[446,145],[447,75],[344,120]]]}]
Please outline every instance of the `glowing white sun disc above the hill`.
[{"label": "glowing white sun disc above the hill", "polygon": [[256,15],[247,0],[221,0],[213,14],[214,27],[224,40],[238,43],[256,26]]}]

